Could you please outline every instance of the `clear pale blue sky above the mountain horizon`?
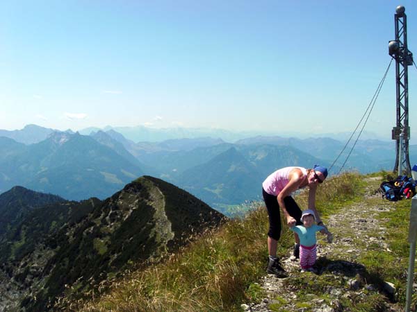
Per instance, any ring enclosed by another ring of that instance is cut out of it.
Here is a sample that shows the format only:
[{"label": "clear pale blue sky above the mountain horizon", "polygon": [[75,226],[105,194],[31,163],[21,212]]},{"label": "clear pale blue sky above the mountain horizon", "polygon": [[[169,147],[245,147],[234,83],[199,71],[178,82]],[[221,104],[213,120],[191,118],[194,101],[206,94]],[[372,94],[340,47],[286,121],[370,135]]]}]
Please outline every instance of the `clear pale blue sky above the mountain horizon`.
[{"label": "clear pale blue sky above the mountain horizon", "polygon": [[[416,1],[6,1],[0,128],[149,125],[352,132]],[[417,69],[409,123],[417,138]],[[391,139],[391,64],[365,130]]]}]

